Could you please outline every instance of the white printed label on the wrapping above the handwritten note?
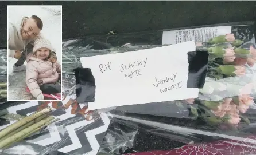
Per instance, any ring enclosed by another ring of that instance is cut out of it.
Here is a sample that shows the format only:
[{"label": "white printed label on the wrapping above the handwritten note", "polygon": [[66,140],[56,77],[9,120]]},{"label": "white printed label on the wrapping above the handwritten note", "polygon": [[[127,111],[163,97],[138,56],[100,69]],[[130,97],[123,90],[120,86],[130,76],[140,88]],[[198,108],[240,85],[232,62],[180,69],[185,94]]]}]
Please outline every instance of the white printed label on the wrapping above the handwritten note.
[{"label": "white printed label on the wrapping above the handwritten note", "polygon": [[231,33],[232,26],[203,27],[196,29],[164,31],[162,44],[176,44],[187,41],[205,42],[217,35]]}]

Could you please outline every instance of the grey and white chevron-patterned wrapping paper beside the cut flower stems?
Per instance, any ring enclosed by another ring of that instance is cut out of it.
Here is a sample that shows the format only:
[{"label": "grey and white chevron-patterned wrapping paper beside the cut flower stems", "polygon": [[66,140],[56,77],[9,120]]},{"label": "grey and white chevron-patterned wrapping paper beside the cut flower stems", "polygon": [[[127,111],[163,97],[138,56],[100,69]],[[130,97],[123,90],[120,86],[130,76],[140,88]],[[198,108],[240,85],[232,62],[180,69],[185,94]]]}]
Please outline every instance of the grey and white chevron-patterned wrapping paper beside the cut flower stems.
[{"label": "grey and white chevron-patterned wrapping paper beside the cut flower stems", "polygon": [[[69,99],[74,99],[75,96],[68,96],[64,101],[58,102],[58,105],[66,104]],[[37,101],[26,102],[7,108],[9,113],[28,116],[36,112],[38,105]],[[48,104],[51,106],[51,103]],[[83,104],[79,105],[83,108]],[[51,106],[52,107],[52,106]],[[110,124],[107,114],[101,113],[98,116],[92,115],[90,120],[85,117],[71,114],[72,106],[68,109],[56,110],[52,113],[59,121],[49,125],[42,133],[33,136],[28,140],[34,144],[57,150],[66,154],[96,154],[98,152],[100,142],[104,138],[104,134]],[[13,124],[15,121],[1,121],[0,129]]]}]

